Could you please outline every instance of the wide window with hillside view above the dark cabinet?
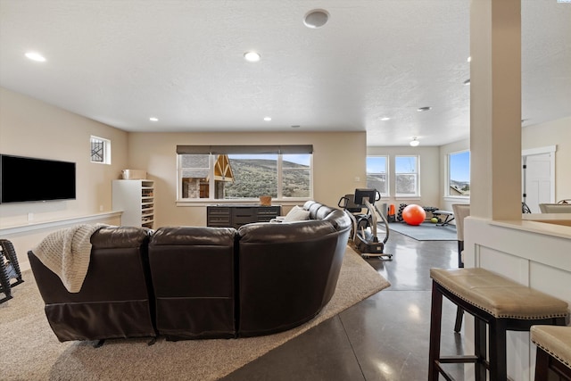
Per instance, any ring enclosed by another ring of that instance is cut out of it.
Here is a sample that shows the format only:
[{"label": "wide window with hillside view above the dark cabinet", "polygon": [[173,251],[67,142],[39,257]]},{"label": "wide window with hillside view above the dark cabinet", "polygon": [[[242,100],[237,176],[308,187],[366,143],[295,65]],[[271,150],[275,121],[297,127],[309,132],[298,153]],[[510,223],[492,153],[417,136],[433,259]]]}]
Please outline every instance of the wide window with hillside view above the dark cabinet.
[{"label": "wide window with hillside view above the dark cabinet", "polygon": [[179,200],[312,197],[308,145],[179,145],[177,153]]}]

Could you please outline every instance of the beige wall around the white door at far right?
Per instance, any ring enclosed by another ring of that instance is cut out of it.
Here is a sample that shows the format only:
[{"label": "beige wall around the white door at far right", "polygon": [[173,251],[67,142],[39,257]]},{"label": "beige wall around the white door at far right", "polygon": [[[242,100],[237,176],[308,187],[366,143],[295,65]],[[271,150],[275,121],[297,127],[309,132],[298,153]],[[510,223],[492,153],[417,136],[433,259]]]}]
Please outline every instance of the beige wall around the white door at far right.
[{"label": "beige wall around the white door at far right", "polygon": [[522,149],[556,145],[555,200],[571,198],[571,117],[522,128]]}]

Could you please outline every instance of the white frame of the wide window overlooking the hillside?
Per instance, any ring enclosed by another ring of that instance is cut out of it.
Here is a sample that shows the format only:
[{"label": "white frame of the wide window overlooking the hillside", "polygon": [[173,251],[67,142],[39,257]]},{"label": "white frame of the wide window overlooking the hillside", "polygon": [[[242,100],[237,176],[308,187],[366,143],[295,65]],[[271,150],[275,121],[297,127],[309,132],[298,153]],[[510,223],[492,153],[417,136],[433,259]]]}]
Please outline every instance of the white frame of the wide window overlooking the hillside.
[{"label": "white frame of the wide window overlooking the hillside", "polygon": [[[223,198],[215,198],[215,183],[214,183],[214,166],[216,163],[217,154],[215,153],[204,153],[209,156],[209,178],[210,178],[210,186],[209,186],[209,196],[208,198],[183,198],[182,197],[182,173],[183,168],[181,165],[181,157],[182,154],[177,154],[177,203],[241,203],[241,202],[256,202],[258,203],[260,200],[259,198],[238,198],[238,199],[223,199]],[[253,154],[253,153],[252,153]],[[308,153],[310,155],[310,195],[307,197],[287,197],[283,195],[283,157],[286,154],[277,153],[277,198],[275,201],[291,201],[291,202],[298,202],[298,201],[307,201],[313,199],[313,154]],[[291,169],[287,169],[291,170]]]}]

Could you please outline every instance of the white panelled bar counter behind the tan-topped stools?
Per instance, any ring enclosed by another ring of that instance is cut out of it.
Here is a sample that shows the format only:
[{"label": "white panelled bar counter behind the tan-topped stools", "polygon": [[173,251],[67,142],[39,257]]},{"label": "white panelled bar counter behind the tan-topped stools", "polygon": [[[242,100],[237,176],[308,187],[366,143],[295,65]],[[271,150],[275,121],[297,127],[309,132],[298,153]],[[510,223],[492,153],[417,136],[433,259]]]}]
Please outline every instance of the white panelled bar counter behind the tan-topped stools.
[{"label": "white panelled bar counter behind the tan-topped stools", "polygon": [[[571,214],[524,214],[513,221],[471,216],[464,224],[466,267],[490,269],[571,305]],[[463,329],[467,351],[473,351],[472,317]],[[509,377],[533,380],[534,366],[529,333],[509,332]],[[465,376],[474,379],[473,366],[466,367]]]}]

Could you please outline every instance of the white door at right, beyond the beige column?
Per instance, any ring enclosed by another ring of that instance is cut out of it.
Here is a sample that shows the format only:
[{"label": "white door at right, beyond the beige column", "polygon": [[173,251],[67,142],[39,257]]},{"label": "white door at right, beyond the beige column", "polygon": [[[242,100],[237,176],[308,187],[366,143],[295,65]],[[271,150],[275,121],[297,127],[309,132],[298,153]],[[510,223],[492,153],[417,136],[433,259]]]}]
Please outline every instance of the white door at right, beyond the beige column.
[{"label": "white door at right, beyond the beige column", "polygon": [[555,153],[530,154],[523,156],[524,182],[522,201],[527,204],[532,213],[541,213],[540,203],[553,203],[552,184],[553,169],[551,155]]}]

